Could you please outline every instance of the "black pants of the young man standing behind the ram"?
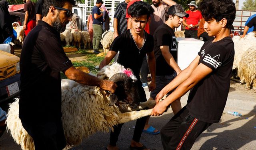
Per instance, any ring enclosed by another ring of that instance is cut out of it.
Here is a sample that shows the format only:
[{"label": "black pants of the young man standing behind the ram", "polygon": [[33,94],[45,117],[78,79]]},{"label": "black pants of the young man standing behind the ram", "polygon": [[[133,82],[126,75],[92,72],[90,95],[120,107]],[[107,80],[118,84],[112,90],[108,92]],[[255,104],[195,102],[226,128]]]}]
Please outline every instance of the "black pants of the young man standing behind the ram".
[{"label": "black pants of the young man standing behind the ram", "polygon": [[[140,102],[146,102],[146,93],[144,91],[144,89],[142,88],[142,82],[140,81],[140,78],[138,76],[136,76],[138,78],[138,88],[140,91]],[[137,119],[136,121],[136,125],[134,128],[134,133],[133,133],[133,137],[132,140],[134,140],[135,142],[140,142],[140,137],[142,134],[142,131],[144,129],[144,126],[146,124],[148,116],[142,117],[140,119]],[[122,129],[123,124],[118,124],[117,126],[114,126],[114,132],[111,131],[110,133],[110,142],[109,144],[111,146],[116,146],[116,142],[118,141],[118,136],[120,134],[120,131]]]}]

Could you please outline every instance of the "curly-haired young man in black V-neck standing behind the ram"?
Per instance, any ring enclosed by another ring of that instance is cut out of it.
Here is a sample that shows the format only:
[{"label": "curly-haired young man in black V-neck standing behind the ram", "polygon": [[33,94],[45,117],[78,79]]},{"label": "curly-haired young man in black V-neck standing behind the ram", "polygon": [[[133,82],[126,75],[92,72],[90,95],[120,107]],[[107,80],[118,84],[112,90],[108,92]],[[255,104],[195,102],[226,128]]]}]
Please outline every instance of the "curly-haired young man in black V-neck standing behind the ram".
[{"label": "curly-haired young man in black V-neck standing behind the ram", "polygon": [[[153,12],[154,10],[148,3],[142,1],[134,2],[134,4],[128,8],[128,14],[131,16],[132,28],[114,39],[114,42],[110,46],[110,50],[108,51],[106,57],[100,63],[100,68],[109,64],[119,50],[120,54],[117,62],[123,65],[125,68],[131,68],[134,75],[138,79],[137,83],[140,90],[140,102],[145,102],[147,100],[139,76],[142,60],[146,54],[148,55],[148,64],[152,76],[152,82],[149,90],[154,90],[156,87],[155,59],[153,52],[154,40],[153,37],[144,30],[146,23],[148,22],[148,18]],[[131,150],[147,149],[145,146],[143,146],[143,144],[140,143],[140,136],[145,126],[146,119],[147,116],[138,119],[136,122],[134,135],[130,144]],[[114,126],[114,132],[110,133],[110,144],[107,147],[108,150],[118,149],[116,142],[118,140],[122,125],[123,124],[118,124],[118,126]]]}]

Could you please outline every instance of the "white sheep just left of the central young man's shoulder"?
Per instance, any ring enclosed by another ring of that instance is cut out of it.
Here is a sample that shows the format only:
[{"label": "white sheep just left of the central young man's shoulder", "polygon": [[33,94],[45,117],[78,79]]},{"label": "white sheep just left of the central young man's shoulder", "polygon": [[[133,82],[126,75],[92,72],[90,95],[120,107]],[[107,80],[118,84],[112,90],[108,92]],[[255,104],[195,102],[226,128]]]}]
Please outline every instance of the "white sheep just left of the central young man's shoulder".
[{"label": "white sheep just left of the central young man's shoulder", "polygon": [[109,48],[114,41],[114,32],[113,31],[106,31],[102,34],[102,38],[100,40],[103,52],[106,54],[109,51]]}]

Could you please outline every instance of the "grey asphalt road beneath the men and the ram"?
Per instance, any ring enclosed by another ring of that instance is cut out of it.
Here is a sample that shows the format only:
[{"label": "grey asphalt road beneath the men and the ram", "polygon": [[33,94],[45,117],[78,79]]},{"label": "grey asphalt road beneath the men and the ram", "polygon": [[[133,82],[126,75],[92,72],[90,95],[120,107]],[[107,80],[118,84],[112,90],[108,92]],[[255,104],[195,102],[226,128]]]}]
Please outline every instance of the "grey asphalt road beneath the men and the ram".
[{"label": "grey asphalt road beneath the men and the ram", "polygon": [[[226,108],[231,109],[231,108]],[[226,112],[226,110],[224,112]],[[221,121],[212,124],[196,140],[192,150],[255,150],[256,149],[256,114],[239,110],[242,117],[224,113]],[[160,129],[173,116],[168,110],[160,117],[152,117],[150,124]],[[120,150],[129,150],[130,140],[135,121],[128,122],[122,127],[117,145]],[[109,142],[109,133],[98,132],[83,140],[82,144],[67,148],[68,150],[104,150]],[[142,133],[141,142],[151,150],[163,150],[160,134]],[[0,150],[20,150],[9,133],[0,138]]]}]

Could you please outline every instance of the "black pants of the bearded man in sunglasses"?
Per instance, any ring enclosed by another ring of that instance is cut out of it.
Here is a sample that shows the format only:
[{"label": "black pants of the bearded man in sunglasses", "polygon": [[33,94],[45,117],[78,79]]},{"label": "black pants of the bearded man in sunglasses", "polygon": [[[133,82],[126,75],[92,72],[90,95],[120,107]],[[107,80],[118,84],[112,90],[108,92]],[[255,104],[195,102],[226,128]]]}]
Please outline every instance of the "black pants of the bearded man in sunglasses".
[{"label": "black pants of the bearded man in sunglasses", "polygon": [[21,121],[23,128],[33,138],[36,150],[62,150],[66,147],[61,120],[52,122]]}]

